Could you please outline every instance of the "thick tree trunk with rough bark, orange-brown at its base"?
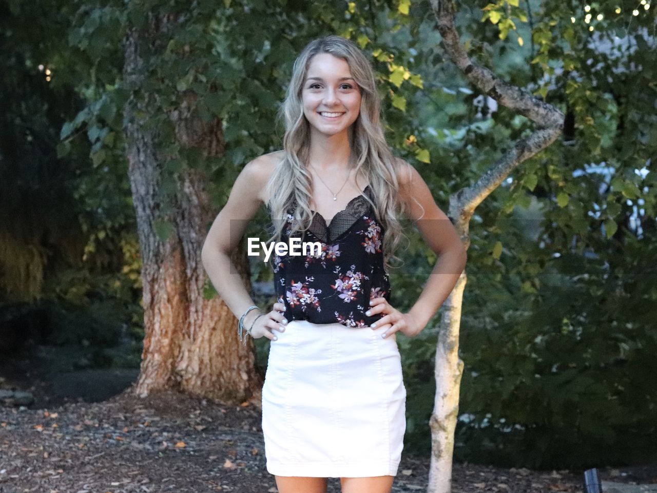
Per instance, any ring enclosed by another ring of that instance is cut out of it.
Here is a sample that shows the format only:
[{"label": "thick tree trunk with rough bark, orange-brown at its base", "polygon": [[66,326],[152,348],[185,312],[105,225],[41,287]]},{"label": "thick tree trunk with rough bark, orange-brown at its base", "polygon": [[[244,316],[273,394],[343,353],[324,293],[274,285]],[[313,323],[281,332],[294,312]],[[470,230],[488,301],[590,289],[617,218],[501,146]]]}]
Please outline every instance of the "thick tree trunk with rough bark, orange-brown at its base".
[{"label": "thick tree trunk with rough bark, orange-brown at its base", "polygon": [[[126,81],[135,89],[143,82],[143,47],[158,50],[158,33],[175,18],[153,18],[148,31],[131,30],[125,38]],[[161,47],[164,50],[164,46]],[[134,391],[142,397],[152,391],[175,388],[190,395],[223,402],[260,403],[261,377],[254,366],[250,339],[238,340],[237,319],[220,298],[204,300],[206,277],[201,249],[215,211],[200,170],[187,168],[176,175],[172,212],[165,214],[156,192],[162,182],[162,159],[156,149],[157,128],[144,125],[140,114],[157,111],[157,94],[138,100],[135,94],[125,109],[125,138],[129,177],[137,212],[143,269],[145,340],[141,374]],[[184,94],[168,117],[176,138],[185,148],[200,148],[204,155],[223,153],[221,121],[204,123],[193,117],[194,95]],[[173,233],[166,241],[156,234],[156,221],[166,220]],[[240,245],[241,246],[241,245]],[[244,248],[236,248],[233,263],[247,288],[249,272]]]}]

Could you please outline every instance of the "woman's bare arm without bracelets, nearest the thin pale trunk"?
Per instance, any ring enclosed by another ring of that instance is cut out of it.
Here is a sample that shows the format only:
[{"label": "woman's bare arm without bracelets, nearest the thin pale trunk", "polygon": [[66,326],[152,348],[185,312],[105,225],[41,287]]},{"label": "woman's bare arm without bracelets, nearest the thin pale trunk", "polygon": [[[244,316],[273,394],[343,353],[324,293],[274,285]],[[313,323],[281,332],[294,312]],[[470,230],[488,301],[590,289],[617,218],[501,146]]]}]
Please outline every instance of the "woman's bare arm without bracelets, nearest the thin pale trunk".
[{"label": "woman's bare arm without bracelets, nearest the thin pale trunk", "polygon": [[424,328],[451,293],[468,258],[466,249],[447,215],[438,208],[419,172],[403,161],[399,176],[407,216],[417,225],[424,241],[438,259],[409,315]]}]

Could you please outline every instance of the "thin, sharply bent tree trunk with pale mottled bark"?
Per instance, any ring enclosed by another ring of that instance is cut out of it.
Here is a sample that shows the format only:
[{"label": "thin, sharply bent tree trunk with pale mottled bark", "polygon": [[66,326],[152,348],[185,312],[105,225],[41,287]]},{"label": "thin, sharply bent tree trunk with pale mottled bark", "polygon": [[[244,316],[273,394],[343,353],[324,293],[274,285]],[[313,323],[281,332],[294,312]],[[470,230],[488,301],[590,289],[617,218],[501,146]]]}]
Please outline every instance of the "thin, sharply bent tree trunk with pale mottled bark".
[{"label": "thin, sharply bent tree trunk with pale mottled bark", "polygon": [[[537,124],[527,138],[515,142],[498,161],[472,186],[459,190],[449,199],[449,217],[454,222],[466,248],[470,246],[469,222],[476,207],[509,176],[514,168],[549,146],[562,132],[564,115],[551,104],[535,98],[525,90],[499,79],[489,69],[478,66],[468,57],[454,27],[454,5],[451,0],[430,0],[445,52],[463,71],[470,82],[499,104]],[[459,387],[463,361],[459,359],[461,306],[466,284],[463,272],[445,303],[438,330],[436,349],[436,398],[429,424],[432,455],[428,493],[451,492],[451,469],[454,431],[459,418]]]}]

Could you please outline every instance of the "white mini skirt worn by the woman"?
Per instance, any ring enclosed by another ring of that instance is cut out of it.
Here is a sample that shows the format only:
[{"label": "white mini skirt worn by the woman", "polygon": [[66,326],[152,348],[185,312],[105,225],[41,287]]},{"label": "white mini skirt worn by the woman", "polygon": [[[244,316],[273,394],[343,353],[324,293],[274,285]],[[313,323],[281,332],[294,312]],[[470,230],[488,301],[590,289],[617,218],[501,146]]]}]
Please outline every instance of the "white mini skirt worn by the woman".
[{"label": "white mini skirt worn by the woman", "polygon": [[396,334],[293,320],[269,345],[262,389],[267,471],[395,476],[406,431]]}]

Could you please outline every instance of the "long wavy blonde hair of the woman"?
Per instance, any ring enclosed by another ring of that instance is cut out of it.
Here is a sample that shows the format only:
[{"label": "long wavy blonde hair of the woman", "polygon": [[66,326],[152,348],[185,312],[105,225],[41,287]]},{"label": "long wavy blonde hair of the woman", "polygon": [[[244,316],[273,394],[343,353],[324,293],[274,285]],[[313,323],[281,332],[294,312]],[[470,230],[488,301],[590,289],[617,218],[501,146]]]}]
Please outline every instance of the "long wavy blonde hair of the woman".
[{"label": "long wavy blonde hair of the woman", "polygon": [[[361,90],[361,107],[357,119],[350,127],[350,145],[356,158],[355,176],[363,176],[370,184],[376,218],[384,227],[384,264],[390,268],[390,259],[398,259],[394,252],[399,245],[403,228],[398,217],[404,212],[399,201],[399,183],[396,170],[404,161],[395,157],[386,143],[381,121],[381,100],[374,81],[374,70],[363,52],[348,39],[329,35],[314,39],[306,45],[294,61],[292,79],[279,109],[278,119],[284,119],[284,157],[277,164],[267,184],[267,207],[273,221],[273,236],[269,241],[281,241],[283,227],[290,207],[292,212],[290,236],[304,232],[312,224],[315,213],[311,211],[311,174],[307,169],[309,157],[310,124],[304,115],[302,90],[308,66],[316,54],[329,53],[349,64],[351,77]],[[410,171],[410,170],[409,170]]]}]

